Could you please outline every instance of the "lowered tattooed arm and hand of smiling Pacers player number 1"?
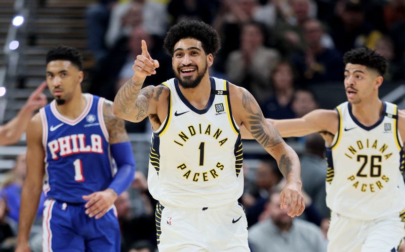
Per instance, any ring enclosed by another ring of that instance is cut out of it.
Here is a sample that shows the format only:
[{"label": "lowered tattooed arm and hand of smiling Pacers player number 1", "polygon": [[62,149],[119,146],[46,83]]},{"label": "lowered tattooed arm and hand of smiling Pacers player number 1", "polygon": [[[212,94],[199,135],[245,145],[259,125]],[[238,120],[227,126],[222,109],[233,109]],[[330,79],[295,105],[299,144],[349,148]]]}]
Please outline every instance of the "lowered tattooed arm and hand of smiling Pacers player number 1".
[{"label": "lowered tattooed arm and hand of smiling Pacers player number 1", "polygon": [[267,121],[256,99],[246,89],[229,85],[232,115],[243,125],[263,148],[277,161],[278,168],[287,179],[281,192],[281,208],[289,207],[291,217],[300,215],[304,209],[301,192],[301,167],[297,153],[281,138],[273,125]]}]

